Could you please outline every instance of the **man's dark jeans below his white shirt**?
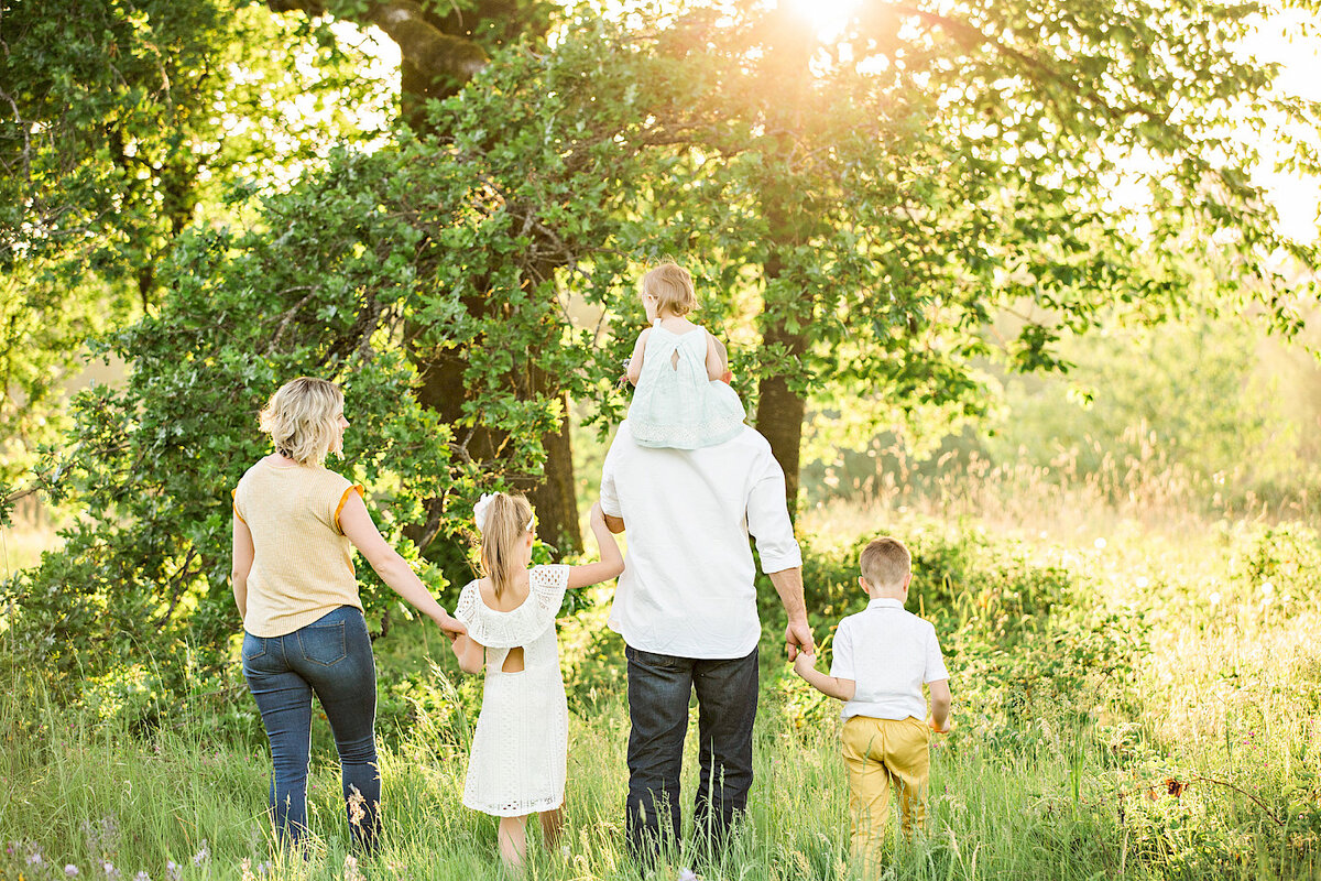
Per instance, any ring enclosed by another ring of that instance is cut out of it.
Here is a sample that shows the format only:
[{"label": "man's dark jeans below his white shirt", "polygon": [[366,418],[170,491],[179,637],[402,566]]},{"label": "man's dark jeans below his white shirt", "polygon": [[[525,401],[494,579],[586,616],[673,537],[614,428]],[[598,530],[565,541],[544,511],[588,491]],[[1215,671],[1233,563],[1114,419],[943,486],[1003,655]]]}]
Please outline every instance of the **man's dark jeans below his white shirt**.
[{"label": "man's dark jeans below his white shirt", "polygon": [[694,815],[699,841],[719,849],[752,789],[752,724],[757,716],[757,650],[708,660],[629,646],[629,800],[635,859],[679,840],[679,771],[688,697],[697,692],[701,779]]}]

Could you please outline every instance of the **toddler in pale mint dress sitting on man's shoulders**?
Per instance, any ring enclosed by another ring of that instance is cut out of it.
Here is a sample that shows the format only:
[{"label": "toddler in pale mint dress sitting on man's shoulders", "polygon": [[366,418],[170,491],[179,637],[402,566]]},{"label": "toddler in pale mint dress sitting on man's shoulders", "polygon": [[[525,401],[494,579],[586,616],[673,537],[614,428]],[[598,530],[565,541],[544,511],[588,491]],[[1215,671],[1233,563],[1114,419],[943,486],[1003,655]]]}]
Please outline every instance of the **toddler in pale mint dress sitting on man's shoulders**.
[{"label": "toddler in pale mint dress sitting on man's shoulders", "polygon": [[642,276],[642,305],[651,326],[638,335],[629,359],[637,386],[629,432],[642,446],[697,449],[723,444],[742,431],[744,405],[729,387],[720,343],[687,316],[697,305],[692,276],[662,263]]}]

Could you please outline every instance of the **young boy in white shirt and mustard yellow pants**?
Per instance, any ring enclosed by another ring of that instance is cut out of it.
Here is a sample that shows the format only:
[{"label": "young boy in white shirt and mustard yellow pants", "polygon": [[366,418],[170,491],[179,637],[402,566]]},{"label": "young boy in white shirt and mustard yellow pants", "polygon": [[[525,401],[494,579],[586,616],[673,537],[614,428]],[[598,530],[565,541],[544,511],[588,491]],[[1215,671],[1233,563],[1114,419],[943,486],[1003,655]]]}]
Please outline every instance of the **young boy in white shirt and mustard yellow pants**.
[{"label": "young boy in white shirt and mustard yellow pants", "polygon": [[[794,671],[844,704],[840,752],[848,766],[849,839],[855,857],[875,859],[885,840],[890,787],[898,791],[904,835],[926,820],[927,728],[950,730],[950,674],[935,627],[904,610],[911,559],[898,539],[872,540],[857,580],[872,598],[839,622],[827,676],[816,656],[799,652]],[[926,716],[922,684],[931,688]]]}]

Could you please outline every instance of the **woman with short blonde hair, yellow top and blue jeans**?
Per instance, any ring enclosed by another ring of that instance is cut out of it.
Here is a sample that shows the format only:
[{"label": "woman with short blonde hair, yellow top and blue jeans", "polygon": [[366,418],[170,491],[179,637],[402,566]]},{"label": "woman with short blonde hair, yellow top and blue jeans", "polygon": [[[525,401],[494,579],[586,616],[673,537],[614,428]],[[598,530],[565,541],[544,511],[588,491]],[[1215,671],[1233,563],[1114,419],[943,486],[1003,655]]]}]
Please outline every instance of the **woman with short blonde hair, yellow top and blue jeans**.
[{"label": "woman with short blonde hair, yellow top and blue jeans", "polygon": [[343,392],[300,376],[260,413],[275,452],[234,490],[234,601],[243,617],[243,676],[271,742],[269,804],[280,841],[306,833],[312,695],[339,752],[350,833],[376,843],[376,670],[350,544],[380,580],[452,639],[465,633],[376,530],[362,486],[325,468],[342,454]]}]

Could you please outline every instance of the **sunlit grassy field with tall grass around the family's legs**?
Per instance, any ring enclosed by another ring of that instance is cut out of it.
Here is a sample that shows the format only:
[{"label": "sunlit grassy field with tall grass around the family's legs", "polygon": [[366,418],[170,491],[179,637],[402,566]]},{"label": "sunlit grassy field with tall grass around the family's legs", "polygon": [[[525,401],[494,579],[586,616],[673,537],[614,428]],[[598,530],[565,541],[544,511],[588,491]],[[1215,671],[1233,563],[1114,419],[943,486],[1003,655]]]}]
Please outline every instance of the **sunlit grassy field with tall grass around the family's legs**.
[{"label": "sunlit grassy field with tall grass around the family's legs", "polygon": [[[1063,505],[1053,507],[1012,495],[1016,507],[983,493],[963,510],[951,499],[881,498],[808,511],[801,523],[819,641],[863,604],[848,586],[857,540],[890,532],[914,547],[910,606],[938,622],[950,659],[958,726],[934,748],[930,827],[894,843],[882,877],[1321,878],[1316,534],[1194,519],[1178,506],[1054,498]],[[1074,503],[1096,505],[1095,515]],[[651,877],[856,874],[838,705],[787,675],[765,617],[749,823],[721,863],[679,852]],[[380,647],[382,692],[402,668],[391,651],[427,671],[429,691],[383,732],[379,856],[347,853],[324,730],[314,853],[289,864],[271,847],[268,758],[246,695],[229,711],[242,724],[218,728],[211,704],[182,701],[165,708],[166,724],[143,728],[50,707],[16,680],[0,699],[0,878],[65,877],[66,866],[96,878],[502,877],[494,820],[458,798],[478,684],[461,682],[444,655],[428,667],[423,652],[398,649],[420,645],[407,629],[398,638]],[[627,713],[604,606],[561,622],[561,646],[569,847],[534,847],[527,873],[639,877],[622,848]],[[36,697],[12,697],[25,692]],[[686,799],[695,754],[687,771]]]}]

